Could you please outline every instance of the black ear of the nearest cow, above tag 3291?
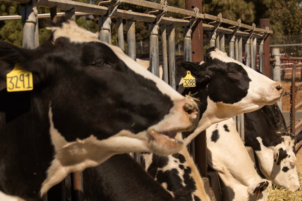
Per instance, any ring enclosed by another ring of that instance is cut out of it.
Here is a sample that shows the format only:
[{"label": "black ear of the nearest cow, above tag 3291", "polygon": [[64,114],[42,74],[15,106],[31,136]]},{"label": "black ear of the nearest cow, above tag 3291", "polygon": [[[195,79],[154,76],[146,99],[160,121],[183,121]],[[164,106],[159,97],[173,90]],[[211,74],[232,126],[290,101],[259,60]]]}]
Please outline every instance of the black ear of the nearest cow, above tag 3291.
[{"label": "black ear of the nearest cow, above tag 3291", "polygon": [[31,60],[31,50],[0,42],[0,91],[6,88],[6,74],[14,69],[16,63],[24,66]]}]

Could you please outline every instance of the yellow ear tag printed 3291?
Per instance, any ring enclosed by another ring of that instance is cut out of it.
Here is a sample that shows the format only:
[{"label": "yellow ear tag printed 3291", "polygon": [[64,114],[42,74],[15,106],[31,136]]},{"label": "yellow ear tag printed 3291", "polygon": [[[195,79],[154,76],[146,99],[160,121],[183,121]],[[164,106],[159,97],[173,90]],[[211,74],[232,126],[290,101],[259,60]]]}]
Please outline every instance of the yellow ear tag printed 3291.
[{"label": "yellow ear tag printed 3291", "polygon": [[6,74],[6,89],[8,92],[32,90],[32,72],[25,71],[16,63],[14,69]]}]

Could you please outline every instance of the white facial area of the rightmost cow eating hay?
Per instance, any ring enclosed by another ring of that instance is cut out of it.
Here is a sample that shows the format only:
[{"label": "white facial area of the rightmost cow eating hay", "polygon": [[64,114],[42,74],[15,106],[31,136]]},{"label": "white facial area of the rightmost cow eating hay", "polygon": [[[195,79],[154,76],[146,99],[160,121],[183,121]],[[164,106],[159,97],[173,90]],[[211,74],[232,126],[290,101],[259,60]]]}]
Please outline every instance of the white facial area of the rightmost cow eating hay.
[{"label": "white facial area of the rightmost cow eating hay", "polygon": [[[256,139],[260,143],[261,151],[255,151],[259,166],[262,174],[272,183],[279,188],[289,188],[291,191],[296,192],[300,188],[299,178],[295,164],[297,158],[293,152],[294,140],[289,136],[282,136],[282,143],[277,146],[266,147],[262,143],[262,139]],[[282,148],[290,157],[284,158],[280,165],[274,160],[277,158],[278,150]],[[282,171],[283,168],[288,168],[287,172]]]}]

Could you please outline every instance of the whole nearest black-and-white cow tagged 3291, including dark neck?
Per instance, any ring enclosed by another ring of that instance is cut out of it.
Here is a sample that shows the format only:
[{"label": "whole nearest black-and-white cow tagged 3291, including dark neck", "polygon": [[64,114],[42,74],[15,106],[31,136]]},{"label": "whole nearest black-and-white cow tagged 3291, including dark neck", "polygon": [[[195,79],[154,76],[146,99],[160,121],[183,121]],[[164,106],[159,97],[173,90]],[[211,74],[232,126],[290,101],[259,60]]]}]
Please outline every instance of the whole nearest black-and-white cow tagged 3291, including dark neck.
[{"label": "whole nearest black-and-white cow tagged 3291, including dark neck", "polygon": [[[36,50],[0,43],[0,191],[40,200],[114,154],[182,149],[174,137],[196,126],[194,101],[74,21],[50,29]],[[32,72],[32,91],[7,92],[15,64]]]}]

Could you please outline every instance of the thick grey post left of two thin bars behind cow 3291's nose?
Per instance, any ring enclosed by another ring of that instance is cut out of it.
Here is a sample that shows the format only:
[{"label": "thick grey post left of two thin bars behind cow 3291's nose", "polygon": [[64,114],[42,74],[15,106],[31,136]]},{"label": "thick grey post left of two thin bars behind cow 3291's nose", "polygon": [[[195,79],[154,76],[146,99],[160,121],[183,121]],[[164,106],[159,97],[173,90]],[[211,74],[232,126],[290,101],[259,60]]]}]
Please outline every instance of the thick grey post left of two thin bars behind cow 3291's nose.
[{"label": "thick grey post left of two thin bars behind cow 3291's nose", "polygon": [[157,24],[149,24],[150,71],[157,77],[159,77],[158,30],[159,30],[159,27]]}]

